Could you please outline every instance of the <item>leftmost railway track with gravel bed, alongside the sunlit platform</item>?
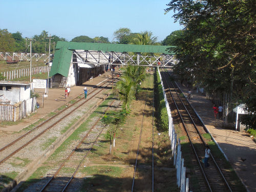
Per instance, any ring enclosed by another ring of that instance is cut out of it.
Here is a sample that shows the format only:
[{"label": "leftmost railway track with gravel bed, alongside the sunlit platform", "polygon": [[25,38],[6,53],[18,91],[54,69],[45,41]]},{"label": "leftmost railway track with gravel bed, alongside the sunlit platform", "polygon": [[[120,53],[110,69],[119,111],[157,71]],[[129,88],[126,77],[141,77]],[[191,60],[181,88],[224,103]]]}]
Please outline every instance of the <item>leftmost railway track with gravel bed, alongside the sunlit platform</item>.
[{"label": "leftmost railway track with gravel bed, alongside the sunlit platform", "polygon": [[[117,79],[117,78],[116,78]],[[116,80],[115,79],[115,80]],[[68,106],[67,108],[60,111],[58,114],[52,116],[48,120],[40,123],[32,130],[27,132],[26,134],[18,137],[11,143],[0,149],[0,165],[5,161],[10,159],[16,153],[24,150],[24,148],[32,143],[34,140],[49,132],[54,126],[57,126],[62,120],[68,120],[72,118],[74,112],[81,110],[85,103],[90,101],[92,98],[95,98],[100,92],[102,92],[105,88],[107,88],[112,83],[112,79],[103,82],[99,87],[93,88],[89,90],[88,98],[84,100],[83,98],[78,99],[76,102]],[[103,87],[106,84],[105,87]],[[88,106],[87,106],[88,108]],[[87,109],[88,110],[88,109]],[[67,122],[70,123],[70,122]]]}]

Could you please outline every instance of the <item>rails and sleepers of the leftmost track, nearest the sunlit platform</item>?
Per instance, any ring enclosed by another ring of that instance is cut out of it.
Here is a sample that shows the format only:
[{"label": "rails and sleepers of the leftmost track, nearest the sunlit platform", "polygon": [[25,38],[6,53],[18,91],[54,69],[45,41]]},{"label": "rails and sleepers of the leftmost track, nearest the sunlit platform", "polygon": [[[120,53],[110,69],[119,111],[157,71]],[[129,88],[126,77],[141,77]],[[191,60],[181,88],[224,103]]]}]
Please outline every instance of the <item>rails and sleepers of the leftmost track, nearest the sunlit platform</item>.
[{"label": "rails and sleepers of the leftmost track, nearest the sunlit platform", "polygon": [[[117,78],[116,78],[117,79]],[[116,80],[115,79],[115,80]],[[104,84],[106,84],[109,81],[105,81],[101,86],[103,86]],[[83,99],[79,99],[77,102],[71,104],[69,107],[65,108],[64,110],[62,110],[60,113],[54,115],[52,118],[50,118],[49,120],[46,120],[45,122],[42,122],[41,124],[39,124],[38,126],[34,127],[34,129],[32,129],[31,131],[27,132],[26,134],[24,134],[23,136],[19,137],[18,139],[14,140],[13,142],[9,143],[8,145],[6,145],[5,147],[1,148],[0,152],[3,156],[3,154],[7,154],[6,156],[4,156],[3,159],[0,160],[0,165],[3,164],[6,160],[10,159],[13,155],[15,155],[17,152],[19,152],[20,150],[22,150],[24,147],[26,147],[27,145],[29,145],[32,141],[34,141],[35,139],[37,139],[38,137],[40,137],[41,135],[45,134],[48,130],[50,130],[54,125],[56,125],[58,122],[60,122],[63,118],[69,116],[70,114],[72,114],[75,110],[79,109],[80,106],[86,102],[88,102],[89,100],[91,100],[92,98],[94,98],[97,94],[99,94],[101,91],[103,91],[106,87],[108,87],[110,84],[112,83],[112,80],[109,82],[109,84],[107,84],[104,88],[102,88],[100,91],[98,91],[97,93],[93,94],[96,90],[98,90],[99,88],[96,88],[95,90],[93,90],[90,95],[91,97],[86,99],[85,101],[83,101]],[[79,102],[81,101],[81,103]],[[75,105],[76,104],[76,105]],[[60,118],[53,122],[50,123],[49,121],[52,120],[53,118],[55,118],[58,115],[61,115],[63,112],[66,112],[67,109],[70,109],[72,106],[74,106],[74,109],[71,109],[70,112],[68,112],[67,114],[65,114],[64,116],[60,116]],[[50,125],[49,125],[50,124]],[[42,125],[46,125],[46,129],[44,127],[42,127]],[[42,128],[42,130],[40,130],[39,128]],[[35,133],[35,132],[39,132],[39,133]],[[27,137],[28,138],[27,138]],[[22,142],[22,139],[26,139],[27,141],[25,141],[25,144],[23,142],[22,143],[18,143],[18,141]],[[16,146],[16,148],[13,150],[14,146]],[[11,152],[10,152],[11,151]]]}]

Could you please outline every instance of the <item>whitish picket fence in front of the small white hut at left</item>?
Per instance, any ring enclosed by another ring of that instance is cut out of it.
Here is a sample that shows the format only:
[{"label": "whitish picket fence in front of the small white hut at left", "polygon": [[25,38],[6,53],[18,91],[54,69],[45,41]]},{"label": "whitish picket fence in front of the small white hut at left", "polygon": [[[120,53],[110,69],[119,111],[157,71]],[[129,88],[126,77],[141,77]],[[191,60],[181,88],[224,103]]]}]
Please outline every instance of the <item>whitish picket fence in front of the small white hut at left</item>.
[{"label": "whitish picket fence in front of the small white hut at left", "polygon": [[19,105],[1,105],[0,121],[17,121],[35,111],[36,98],[22,101]]}]

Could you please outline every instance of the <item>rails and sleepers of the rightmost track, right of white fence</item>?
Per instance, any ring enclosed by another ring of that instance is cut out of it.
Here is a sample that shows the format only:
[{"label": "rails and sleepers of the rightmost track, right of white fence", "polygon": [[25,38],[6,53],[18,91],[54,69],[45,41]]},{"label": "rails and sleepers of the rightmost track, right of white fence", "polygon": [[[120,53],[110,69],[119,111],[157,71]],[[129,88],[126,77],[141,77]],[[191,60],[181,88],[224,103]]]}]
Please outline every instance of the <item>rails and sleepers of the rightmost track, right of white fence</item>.
[{"label": "rails and sleepers of the rightmost track, right of white fence", "polygon": [[[227,190],[232,191],[232,189],[230,188],[229,184],[227,183],[223,173],[221,172],[220,167],[218,166],[218,164],[217,164],[216,160],[214,159],[214,157],[212,156],[212,154],[211,154],[211,158],[209,159],[209,162],[213,163],[216,168],[214,168],[213,166],[210,166],[209,168],[203,168],[203,166],[201,165],[199,157],[204,156],[204,149],[205,149],[204,139],[202,138],[200,132],[198,130],[195,130],[195,129],[197,129],[195,122],[193,120],[192,120],[192,123],[188,122],[188,120],[192,119],[192,118],[189,115],[188,111],[186,110],[186,107],[183,104],[174,85],[172,85],[173,86],[172,89],[175,89],[174,93],[176,92],[176,94],[172,94],[172,90],[169,87],[168,81],[165,76],[165,72],[162,72],[162,75],[165,79],[164,84],[166,87],[168,87],[168,88],[166,88],[167,92],[169,92],[169,94],[172,96],[172,100],[174,101],[176,108],[178,110],[179,116],[182,119],[183,127],[187,133],[187,137],[188,137],[189,142],[191,143],[191,147],[193,147],[193,151],[195,153],[197,162],[201,168],[201,172],[204,175],[205,182],[206,182],[206,185],[208,186],[209,190],[210,191],[227,191]],[[169,99],[170,99],[170,97],[169,97]],[[186,113],[186,115],[182,115],[183,113]],[[191,125],[191,124],[193,124],[193,125]],[[192,137],[194,136],[194,138],[195,137],[197,138],[197,136],[199,136],[200,139],[199,138],[191,139],[190,138],[191,135],[192,135]]]}]

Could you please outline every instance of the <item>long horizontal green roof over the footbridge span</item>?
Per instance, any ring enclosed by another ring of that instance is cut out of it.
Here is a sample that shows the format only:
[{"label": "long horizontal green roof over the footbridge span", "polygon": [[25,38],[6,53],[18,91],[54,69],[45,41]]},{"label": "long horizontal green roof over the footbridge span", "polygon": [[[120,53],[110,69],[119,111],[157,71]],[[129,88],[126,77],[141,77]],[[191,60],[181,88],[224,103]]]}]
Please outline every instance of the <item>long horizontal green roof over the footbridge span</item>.
[{"label": "long horizontal green roof over the footbridge span", "polygon": [[58,41],[56,49],[67,48],[69,50],[94,50],[94,51],[114,51],[114,52],[135,52],[135,53],[169,53],[167,48],[172,46],[150,46],[150,45],[130,45],[130,44],[98,44],[93,42],[67,42]]}]

